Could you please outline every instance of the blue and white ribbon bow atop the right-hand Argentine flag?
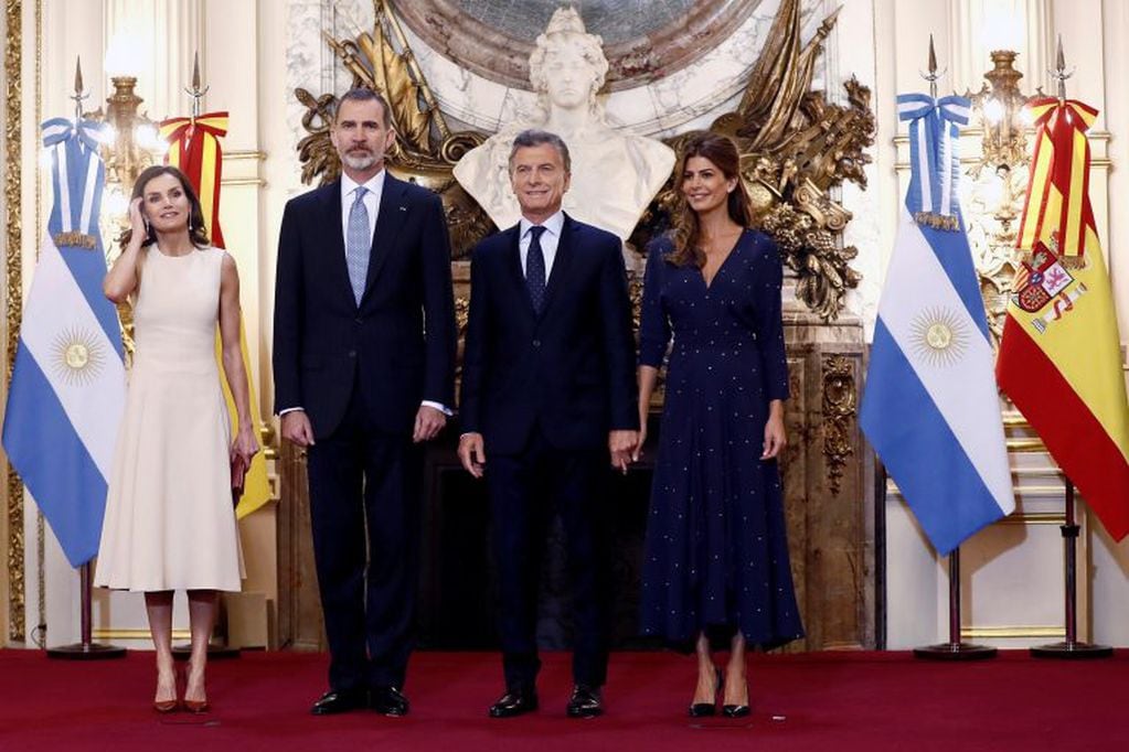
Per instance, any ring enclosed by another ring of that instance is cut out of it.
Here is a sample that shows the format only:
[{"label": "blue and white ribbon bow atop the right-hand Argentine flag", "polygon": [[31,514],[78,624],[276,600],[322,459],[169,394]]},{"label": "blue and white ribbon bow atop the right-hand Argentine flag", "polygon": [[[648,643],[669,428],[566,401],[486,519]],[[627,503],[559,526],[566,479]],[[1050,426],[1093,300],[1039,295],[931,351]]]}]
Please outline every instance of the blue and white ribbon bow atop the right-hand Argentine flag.
[{"label": "blue and white ribbon bow atop the right-hand Argentine flag", "polygon": [[971,101],[951,95],[898,95],[898,118],[909,121],[910,187],[905,206],[919,223],[946,230],[960,228],[956,195],[960,126],[966,125]]}]

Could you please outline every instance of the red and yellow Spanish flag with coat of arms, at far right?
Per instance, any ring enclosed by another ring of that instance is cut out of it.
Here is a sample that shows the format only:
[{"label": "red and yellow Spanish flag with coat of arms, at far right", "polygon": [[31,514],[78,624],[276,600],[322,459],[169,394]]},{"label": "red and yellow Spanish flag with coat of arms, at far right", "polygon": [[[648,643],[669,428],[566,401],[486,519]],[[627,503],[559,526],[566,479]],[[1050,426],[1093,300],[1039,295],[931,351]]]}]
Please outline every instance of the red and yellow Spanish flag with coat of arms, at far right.
[{"label": "red and yellow Spanish flag with coat of arms, at far right", "polygon": [[1129,533],[1129,404],[1089,205],[1097,110],[1039,99],[1031,183],[996,375],[1105,529]]}]

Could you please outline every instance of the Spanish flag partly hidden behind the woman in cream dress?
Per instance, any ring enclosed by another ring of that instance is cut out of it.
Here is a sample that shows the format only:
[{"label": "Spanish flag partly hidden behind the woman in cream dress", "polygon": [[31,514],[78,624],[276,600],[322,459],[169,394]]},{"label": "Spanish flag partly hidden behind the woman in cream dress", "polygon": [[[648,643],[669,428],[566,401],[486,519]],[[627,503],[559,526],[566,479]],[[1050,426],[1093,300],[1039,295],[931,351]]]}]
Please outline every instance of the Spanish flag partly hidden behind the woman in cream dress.
[{"label": "Spanish flag partly hidden behind the woman in cream dress", "polygon": [[[224,169],[224,154],[219,145],[219,139],[227,134],[227,113],[209,113],[196,118],[175,117],[163,122],[159,126],[161,138],[168,142],[168,153],[165,162],[180,168],[192,187],[200,196],[200,205],[204,213],[204,222],[208,225],[208,237],[216,248],[226,248],[224,244],[224,232],[219,227],[219,188]],[[257,427],[259,416],[255,405],[255,382],[251,378],[251,357],[247,355],[247,336],[240,320],[239,346],[243,350],[243,368],[247,372],[247,389],[251,392],[251,414]],[[219,330],[216,333],[216,359],[221,360],[221,343]],[[221,366],[222,369],[222,366]],[[221,380],[224,397],[227,400],[227,412],[231,417],[231,425],[238,423],[235,409],[235,400],[231,391],[227,387],[227,381]],[[243,498],[236,507],[236,515],[243,519],[269,502],[271,498],[270,480],[266,476],[266,459],[263,452],[255,454],[247,470]]]}]

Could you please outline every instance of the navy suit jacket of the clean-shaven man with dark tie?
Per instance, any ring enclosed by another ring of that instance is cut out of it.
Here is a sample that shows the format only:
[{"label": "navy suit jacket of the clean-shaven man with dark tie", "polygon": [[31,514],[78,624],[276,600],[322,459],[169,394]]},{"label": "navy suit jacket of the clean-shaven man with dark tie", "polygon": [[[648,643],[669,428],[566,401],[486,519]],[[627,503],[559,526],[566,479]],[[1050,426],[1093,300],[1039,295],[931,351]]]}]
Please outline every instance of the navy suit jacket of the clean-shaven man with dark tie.
[{"label": "navy suit jacket of the clean-shaven man with dark tie", "polygon": [[535,425],[558,449],[599,449],[639,427],[631,303],[620,239],[566,215],[541,315],[518,251],[518,225],[471,262],[461,426],[491,452],[516,453]]}]

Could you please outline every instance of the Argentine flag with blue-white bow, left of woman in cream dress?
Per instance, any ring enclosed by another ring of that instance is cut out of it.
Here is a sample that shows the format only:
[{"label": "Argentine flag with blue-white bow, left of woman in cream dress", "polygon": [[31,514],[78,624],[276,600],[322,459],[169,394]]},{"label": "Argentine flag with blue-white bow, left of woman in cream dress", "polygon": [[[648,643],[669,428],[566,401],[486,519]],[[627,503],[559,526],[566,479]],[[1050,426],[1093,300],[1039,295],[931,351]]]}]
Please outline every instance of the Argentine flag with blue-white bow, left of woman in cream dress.
[{"label": "Argentine flag with blue-white bow, left of woman in cream dress", "polygon": [[99,124],[43,124],[54,204],[27,294],[3,448],[72,566],[98,552],[125,402],[117,312],[102,293]]}]

